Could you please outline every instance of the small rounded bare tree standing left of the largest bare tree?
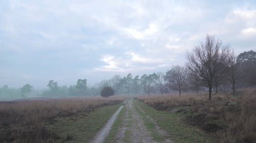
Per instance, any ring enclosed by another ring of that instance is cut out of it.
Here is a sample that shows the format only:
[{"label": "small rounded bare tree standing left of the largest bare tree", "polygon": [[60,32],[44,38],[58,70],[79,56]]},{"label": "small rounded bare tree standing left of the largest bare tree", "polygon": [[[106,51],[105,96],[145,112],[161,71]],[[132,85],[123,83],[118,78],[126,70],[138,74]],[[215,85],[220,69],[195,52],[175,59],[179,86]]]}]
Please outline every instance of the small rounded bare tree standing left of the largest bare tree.
[{"label": "small rounded bare tree standing left of the largest bare tree", "polygon": [[181,95],[181,90],[186,87],[186,81],[188,78],[188,73],[185,67],[174,66],[172,70],[166,72],[164,80],[170,89],[179,91]]}]

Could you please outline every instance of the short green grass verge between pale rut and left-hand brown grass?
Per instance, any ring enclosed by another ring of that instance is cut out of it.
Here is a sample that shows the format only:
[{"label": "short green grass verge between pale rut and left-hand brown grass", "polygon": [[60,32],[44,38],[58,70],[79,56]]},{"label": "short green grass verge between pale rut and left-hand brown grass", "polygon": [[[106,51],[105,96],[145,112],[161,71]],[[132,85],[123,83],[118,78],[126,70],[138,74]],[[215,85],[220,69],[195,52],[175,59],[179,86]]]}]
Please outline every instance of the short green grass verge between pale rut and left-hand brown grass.
[{"label": "short green grass verge between pale rut and left-hand brown grass", "polygon": [[46,127],[60,139],[55,142],[89,142],[118,109],[120,104],[103,106],[91,112],[80,112],[72,117],[60,117]]}]

